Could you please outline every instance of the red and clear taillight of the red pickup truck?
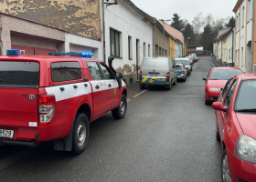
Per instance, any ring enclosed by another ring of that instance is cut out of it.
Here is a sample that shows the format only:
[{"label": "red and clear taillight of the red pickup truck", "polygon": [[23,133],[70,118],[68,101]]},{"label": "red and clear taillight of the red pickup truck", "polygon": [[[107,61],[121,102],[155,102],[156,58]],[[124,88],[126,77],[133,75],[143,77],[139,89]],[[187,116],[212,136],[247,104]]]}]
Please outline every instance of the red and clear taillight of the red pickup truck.
[{"label": "red and clear taillight of the red pickup truck", "polygon": [[48,125],[55,114],[55,96],[39,96],[39,125]]}]

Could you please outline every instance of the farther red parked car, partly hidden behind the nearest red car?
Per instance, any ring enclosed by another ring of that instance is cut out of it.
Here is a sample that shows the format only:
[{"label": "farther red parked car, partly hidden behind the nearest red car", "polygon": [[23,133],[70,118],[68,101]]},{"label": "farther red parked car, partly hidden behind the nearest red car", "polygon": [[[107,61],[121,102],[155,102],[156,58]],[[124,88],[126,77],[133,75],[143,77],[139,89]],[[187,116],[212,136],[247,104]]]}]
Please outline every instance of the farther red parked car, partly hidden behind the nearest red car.
[{"label": "farther red parked car, partly hidden behind the nearest red car", "polygon": [[206,80],[205,104],[209,105],[216,101],[229,78],[240,74],[242,74],[242,71],[238,67],[213,67],[207,78],[203,78],[203,80]]}]

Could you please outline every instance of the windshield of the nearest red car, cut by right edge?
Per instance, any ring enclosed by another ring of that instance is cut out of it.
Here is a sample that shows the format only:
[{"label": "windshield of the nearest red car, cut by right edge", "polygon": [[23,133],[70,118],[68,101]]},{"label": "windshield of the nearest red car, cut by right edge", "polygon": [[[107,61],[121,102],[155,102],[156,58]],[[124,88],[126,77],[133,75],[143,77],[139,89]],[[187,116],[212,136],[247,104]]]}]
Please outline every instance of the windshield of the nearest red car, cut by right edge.
[{"label": "windshield of the nearest red car, cut by right edge", "polygon": [[245,80],[240,84],[235,111],[256,112],[256,80]]}]

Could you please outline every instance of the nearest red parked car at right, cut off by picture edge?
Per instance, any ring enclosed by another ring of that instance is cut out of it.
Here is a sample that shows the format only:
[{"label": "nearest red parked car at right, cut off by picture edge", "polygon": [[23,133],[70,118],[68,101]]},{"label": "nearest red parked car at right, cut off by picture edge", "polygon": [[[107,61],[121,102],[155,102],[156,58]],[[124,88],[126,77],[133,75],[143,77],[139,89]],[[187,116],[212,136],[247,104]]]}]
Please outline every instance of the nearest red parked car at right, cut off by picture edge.
[{"label": "nearest red parked car at right, cut off by picture edge", "polygon": [[230,78],[212,107],[223,148],[222,180],[256,181],[256,75]]}]

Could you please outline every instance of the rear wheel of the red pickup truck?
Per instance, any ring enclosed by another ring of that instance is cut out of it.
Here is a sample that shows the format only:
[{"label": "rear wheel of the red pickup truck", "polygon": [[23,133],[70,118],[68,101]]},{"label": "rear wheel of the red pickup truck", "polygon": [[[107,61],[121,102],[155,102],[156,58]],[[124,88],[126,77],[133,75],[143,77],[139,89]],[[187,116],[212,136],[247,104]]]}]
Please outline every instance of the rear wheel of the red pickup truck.
[{"label": "rear wheel of the red pickup truck", "polygon": [[78,114],[73,129],[72,152],[80,155],[88,147],[90,132],[88,117],[83,113]]}]

